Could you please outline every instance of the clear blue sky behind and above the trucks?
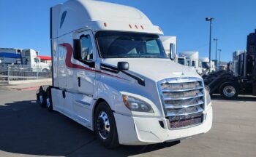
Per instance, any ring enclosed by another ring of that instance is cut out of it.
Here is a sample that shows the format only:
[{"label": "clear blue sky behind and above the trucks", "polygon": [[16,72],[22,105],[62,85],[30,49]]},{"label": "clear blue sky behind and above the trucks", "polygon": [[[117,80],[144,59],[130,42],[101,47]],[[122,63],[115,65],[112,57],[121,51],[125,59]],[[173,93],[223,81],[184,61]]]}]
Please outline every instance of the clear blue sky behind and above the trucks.
[{"label": "clear blue sky behind and above the trucks", "polygon": [[[31,48],[50,55],[49,8],[65,0],[0,0],[0,47]],[[136,7],[159,25],[166,36],[177,36],[178,52],[199,51],[208,57],[209,23],[219,39],[222,60],[246,49],[246,36],[256,29],[255,0],[104,0]],[[212,59],[215,43],[212,43]]]}]

